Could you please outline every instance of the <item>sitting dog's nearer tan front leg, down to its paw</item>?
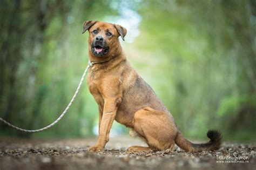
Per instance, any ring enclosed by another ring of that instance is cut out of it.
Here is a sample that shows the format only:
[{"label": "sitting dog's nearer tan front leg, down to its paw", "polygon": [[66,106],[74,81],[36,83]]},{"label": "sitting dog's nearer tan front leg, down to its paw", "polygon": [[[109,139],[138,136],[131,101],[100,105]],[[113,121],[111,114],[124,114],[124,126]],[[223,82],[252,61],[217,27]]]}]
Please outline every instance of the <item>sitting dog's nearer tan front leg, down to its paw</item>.
[{"label": "sitting dog's nearer tan front leg, down to its paw", "polygon": [[110,128],[113,124],[114,118],[116,117],[117,107],[120,101],[121,98],[109,98],[105,100],[102,120],[99,128],[99,138],[97,144],[89,149],[90,152],[102,151],[106,142],[109,141]]}]

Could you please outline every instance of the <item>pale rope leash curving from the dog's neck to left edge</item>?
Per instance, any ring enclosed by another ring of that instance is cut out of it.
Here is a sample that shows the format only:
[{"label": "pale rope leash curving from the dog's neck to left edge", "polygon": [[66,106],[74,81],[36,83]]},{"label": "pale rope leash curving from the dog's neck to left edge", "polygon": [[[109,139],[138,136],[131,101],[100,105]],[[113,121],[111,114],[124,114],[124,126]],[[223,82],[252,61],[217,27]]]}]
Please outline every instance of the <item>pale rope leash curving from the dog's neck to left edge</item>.
[{"label": "pale rope leash curving from the dog's neck to left edge", "polygon": [[[100,63],[103,63],[103,62],[100,62]],[[45,127],[43,127],[43,128],[39,128],[38,130],[24,130],[23,128],[19,128],[19,127],[17,127],[17,126],[14,126],[14,125],[8,123],[8,122],[5,121],[3,118],[0,118],[0,121],[2,121],[4,124],[6,124],[6,125],[8,125],[8,126],[10,126],[10,127],[12,127],[12,128],[14,128],[14,129],[16,129],[16,130],[18,130],[18,131],[29,132],[29,133],[41,132],[41,131],[47,130],[48,128],[50,128],[50,127],[52,127],[53,125],[57,124],[58,121],[59,121],[60,119],[62,119],[62,117],[65,115],[65,113],[69,110],[69,107],[72,105],[73,101],[75,100],[75,98],[76,98],[76,96],[77,96],[77,93],[78,93],[78,91],[79,91],[79,89],[80,89],[80,87],[81,87],[81,85],[82,85],[82,83],[83,83],[84,77],[85,77],[87,71],[89,70],[89,68],[90,68],[93,64],[97,64],[97,63],[95,63],[95,62],[90,62],[90,61],[89,61],[89,64],[88,64],[88,66],[86,67],[86,69],[85,69],[85,71],[84,71],[84,74],[83,74],[83,76],[82,76],[82,78],[81,78],[81,80],[80,80],[80,82],[79,82],[79,84],[78,84],[77,90],[76,90],[76,92],[75,92],[73,98],[70,100],[70,103],[68,104],[68,106],[66,106],[65,110],[63,111],[63,113],[60,114],[60,116],[58,117],[58,119],[56,119],[52,124],[50,124],[50,125],[48,125],[48,126],[45,126]]]}]

